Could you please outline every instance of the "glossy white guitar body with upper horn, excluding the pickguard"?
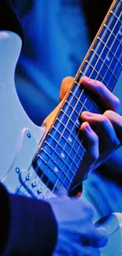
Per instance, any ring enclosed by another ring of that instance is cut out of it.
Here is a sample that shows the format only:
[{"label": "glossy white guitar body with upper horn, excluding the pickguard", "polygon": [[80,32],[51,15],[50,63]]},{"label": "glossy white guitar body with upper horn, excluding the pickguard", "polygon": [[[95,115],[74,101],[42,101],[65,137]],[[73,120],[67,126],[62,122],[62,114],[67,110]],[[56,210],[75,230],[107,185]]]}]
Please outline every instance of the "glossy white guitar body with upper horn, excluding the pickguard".
[{"label": "glossy white guitar body with upper horn, excluding the pickguard", "polygon": [[[19,139],[23,137],[26,128],[35,137],[36,148],[42,139],[43,130],[28,118],[20,104],[14,84],[14,72],[20,54],[21,39],[13,32],[0,32],[0,180],[12,171],[13,159],[17,155]],[[31,139],[30,139],[31,141]],[[25,152],[24,152],[25,153]],[[26,155],[27,154],[27,155]],[[33,156],[35,155],[35,147]],[[30,150],[26,151],[24,158],[32,160]],[[31,164],[31,161],[30,161]],[[29,164],[29,165],[30,165]],[[13,188],[9,188],[13,191]]]}]

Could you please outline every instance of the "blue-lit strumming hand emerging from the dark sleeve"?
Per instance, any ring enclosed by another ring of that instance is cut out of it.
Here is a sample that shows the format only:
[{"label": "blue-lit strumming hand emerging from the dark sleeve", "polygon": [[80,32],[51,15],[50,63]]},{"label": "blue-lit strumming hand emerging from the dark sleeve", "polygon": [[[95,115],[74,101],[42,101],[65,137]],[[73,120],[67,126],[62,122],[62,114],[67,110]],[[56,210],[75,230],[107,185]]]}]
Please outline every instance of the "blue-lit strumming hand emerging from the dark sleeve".
[{"label": "blue-lit strumming hand emerging from the dark sleeve", "polygon": [[57,220],[57,244],[53,256],[100,255],[98,247],[107,243],[103,228],[92,224],[94,208],[86,200],[50,198]]}]

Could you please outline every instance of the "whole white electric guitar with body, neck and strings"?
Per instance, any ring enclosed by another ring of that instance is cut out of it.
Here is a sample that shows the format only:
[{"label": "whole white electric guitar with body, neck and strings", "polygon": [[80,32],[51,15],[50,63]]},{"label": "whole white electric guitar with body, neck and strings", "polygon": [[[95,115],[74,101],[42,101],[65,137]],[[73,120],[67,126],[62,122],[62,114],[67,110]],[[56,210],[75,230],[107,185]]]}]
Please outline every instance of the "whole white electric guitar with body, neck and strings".
[{"label": "whole white electric guitar with body, neck and strings", "polygon": [[[67,195],[86,152],[78,132],[79,114],[84,110],[102,113],[87,90],[79,86],[79,79],[89,76],[113,91],[122,70],[122,0],[113,0],[72,87],[40,128],[24,112],[14,84],[21,45],[16,32],[0,32],[0,179],[11,193],[39,199]],[[105,228],[111,227],[109,218],[116,218],[117,227],[121,225],[120,216],[113,213],[106,217],[102,221]],[[110,235],[120,239],[116,254],[109,246],[102,255],[119,256],[122,230],[112,228]]]}]

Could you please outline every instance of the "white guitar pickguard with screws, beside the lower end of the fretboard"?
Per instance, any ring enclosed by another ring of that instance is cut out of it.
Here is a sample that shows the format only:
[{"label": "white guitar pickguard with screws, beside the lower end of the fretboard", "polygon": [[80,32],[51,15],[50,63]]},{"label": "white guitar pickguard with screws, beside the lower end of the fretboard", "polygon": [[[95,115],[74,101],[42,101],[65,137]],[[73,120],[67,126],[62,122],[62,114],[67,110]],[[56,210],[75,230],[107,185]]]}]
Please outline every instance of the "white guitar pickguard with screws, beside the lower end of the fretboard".
[{"label": "white guitar pickguard with screws, beside the lower end of the fretboard", "polygon": [[[45,128],[42,127],[42,135],[44,131]],[[2,179],[2,183],[6,185],[11,193],[33,198],[54,197],[54,194],[40,180],[31,165],[31,160],[38,147],[39,145],[36,143],[31,131],[24,128],[20,135],[17,153],[6,176]]]}]

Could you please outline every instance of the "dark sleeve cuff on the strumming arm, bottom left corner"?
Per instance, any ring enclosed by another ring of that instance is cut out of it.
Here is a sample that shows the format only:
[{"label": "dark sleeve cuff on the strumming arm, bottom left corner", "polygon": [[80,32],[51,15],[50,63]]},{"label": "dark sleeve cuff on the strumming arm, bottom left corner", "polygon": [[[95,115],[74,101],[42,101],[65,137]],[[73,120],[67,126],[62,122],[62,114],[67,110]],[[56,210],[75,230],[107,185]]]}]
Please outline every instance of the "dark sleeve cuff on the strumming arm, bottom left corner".
[{"label": "dark sleeve cuff on the strumming arm, bottom left corner", "polygon": [[0,255],[51,255],[57,242],[57,221],[44,200],[9,195],[0,184],[2,223]]}]

